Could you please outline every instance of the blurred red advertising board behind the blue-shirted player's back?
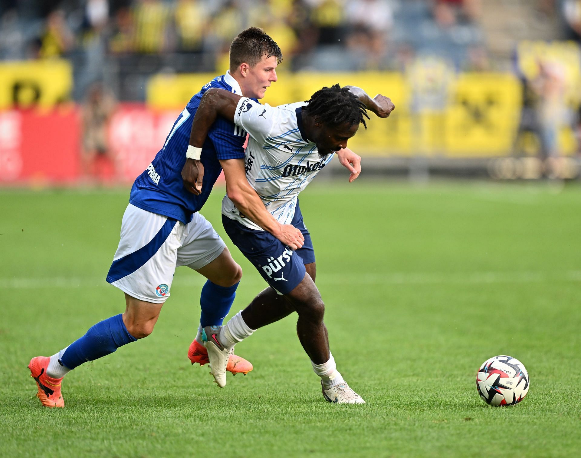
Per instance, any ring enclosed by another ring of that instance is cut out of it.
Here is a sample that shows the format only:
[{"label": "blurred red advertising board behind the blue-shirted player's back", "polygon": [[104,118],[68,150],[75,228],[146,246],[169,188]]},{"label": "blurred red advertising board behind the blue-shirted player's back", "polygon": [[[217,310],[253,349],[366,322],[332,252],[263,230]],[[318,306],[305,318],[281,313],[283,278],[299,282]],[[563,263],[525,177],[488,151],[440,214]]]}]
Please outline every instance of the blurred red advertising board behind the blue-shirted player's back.
[{"label": "blurred red advertising board behind the blue-shirted player's back", "polygon": [[81,167],[78,108],[0,111],[0,185],[131,184],[163,148],[179,110],[152,110],[121,103],[108,128],[109,166]]}]

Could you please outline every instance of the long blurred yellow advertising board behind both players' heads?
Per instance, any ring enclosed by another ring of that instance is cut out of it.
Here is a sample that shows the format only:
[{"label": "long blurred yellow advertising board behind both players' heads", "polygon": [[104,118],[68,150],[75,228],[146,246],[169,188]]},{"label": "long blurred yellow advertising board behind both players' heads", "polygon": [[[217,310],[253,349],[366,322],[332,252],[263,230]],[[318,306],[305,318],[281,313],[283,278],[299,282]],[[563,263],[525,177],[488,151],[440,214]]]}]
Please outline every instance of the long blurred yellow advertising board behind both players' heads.
[{"label": "long blurred yellow advertising board behind both players' heads", "polygon": [[[148,87],[154,108],[181,109],[211,81],[212,74],[155,76]],[[512,152],[522,106],[522,87],[510,73],[461,73],[451,81],[440,112],[411,110],[414,90],[404,74],[394,72],[279,74],[263,103],[303,101],[323,86],[356,85],[371,96],[392,98],[396,110],[388,120],[370,113],[349,142],[365,155],[442,155],[484,157]]]}]

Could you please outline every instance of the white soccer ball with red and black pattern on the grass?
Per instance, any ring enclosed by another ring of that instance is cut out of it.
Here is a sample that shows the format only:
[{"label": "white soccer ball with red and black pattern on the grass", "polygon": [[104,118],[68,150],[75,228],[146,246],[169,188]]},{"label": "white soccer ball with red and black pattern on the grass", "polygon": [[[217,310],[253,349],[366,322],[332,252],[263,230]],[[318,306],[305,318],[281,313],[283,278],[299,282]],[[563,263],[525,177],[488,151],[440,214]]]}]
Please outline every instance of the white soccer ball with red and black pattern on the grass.
[{"label": "white soccer ball with red and black pattern on the grass", "polygon": [[511,406],[521,402],[529,391],[529,374],[512,356],[487,359],[476,374],[480,398],[491,406]]}]

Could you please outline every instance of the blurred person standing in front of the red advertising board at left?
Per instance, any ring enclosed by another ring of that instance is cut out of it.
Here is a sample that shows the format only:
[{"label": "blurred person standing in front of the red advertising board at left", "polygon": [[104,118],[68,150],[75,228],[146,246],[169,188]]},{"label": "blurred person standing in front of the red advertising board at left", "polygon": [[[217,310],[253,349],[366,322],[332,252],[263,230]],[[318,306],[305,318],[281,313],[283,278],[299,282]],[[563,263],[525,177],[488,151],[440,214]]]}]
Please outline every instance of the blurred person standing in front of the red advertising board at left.
[{"label": "blurred person standing in front of the red advertising board at left", "polygon": [[115,159],[109,149],[109,121],[116,108],[116,101],[110,90],[102,83],[89,87],[81,106],[83,127],[83,148],[81,166],[89,181],[106,183],[115,178]]}]

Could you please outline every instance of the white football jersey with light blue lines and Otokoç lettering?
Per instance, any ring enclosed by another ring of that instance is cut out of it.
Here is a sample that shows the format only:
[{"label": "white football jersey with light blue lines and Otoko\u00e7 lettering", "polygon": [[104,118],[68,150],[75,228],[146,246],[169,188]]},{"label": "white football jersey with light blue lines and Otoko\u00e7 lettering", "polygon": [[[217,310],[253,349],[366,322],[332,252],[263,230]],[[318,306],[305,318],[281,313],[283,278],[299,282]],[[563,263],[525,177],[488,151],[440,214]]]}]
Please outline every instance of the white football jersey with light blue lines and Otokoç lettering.
[{"label": "white football jersey with light blue lines and Otoko\u00e7 lettering", "polygon": [[[250,134],[246,178],[281,224],[292,221],[299,192],[334,156],[321,159],[317,145],[305,139],[300,117],[304,105],[296,102],[272,107],[242,98],[234,114],[234,123]],[[228,196],[222,201],[222,213],[246,227],[263,230],[241,215]]]}]

